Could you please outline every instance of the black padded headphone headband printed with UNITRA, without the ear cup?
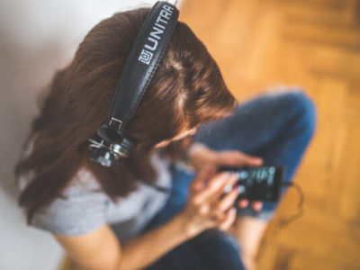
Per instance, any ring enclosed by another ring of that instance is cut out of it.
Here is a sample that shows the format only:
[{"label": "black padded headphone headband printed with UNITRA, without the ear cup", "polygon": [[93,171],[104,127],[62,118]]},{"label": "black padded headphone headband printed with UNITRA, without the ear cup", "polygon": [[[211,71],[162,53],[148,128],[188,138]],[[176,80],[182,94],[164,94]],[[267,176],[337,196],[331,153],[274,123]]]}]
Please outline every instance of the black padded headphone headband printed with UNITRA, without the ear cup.
[{"label": "black padded headphone headband printed with UNITRA, without the ear cup", "polygon": [[158,1],[148,13],[122,71],[106,123],[97,134],[110,143],[125,137],[124,127],[139,105],[173,34],[179,12],[173,4]]}]

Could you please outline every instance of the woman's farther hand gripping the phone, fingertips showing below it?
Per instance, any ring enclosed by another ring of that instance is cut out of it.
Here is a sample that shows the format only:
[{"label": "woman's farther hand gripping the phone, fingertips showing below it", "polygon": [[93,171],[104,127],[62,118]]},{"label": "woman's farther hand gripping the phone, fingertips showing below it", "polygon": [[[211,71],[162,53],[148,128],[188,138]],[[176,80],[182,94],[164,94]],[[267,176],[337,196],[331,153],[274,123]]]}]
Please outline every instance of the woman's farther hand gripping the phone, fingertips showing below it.
[{"label": "woman's farther hand gripping the phone, fingertips showing below it", "polygon": [[[242,153],[238,150],[213,151],[203,145],[193,150],[189,157],[190,164],[196,171],[208,170],[214,175],[219,166],[261,166],[263,159]],[[241,200],[238,206],[247,207],[248,201]],[[255,211],[260,211],[263,207],[262,202],[252,202],[251,206]]]}]

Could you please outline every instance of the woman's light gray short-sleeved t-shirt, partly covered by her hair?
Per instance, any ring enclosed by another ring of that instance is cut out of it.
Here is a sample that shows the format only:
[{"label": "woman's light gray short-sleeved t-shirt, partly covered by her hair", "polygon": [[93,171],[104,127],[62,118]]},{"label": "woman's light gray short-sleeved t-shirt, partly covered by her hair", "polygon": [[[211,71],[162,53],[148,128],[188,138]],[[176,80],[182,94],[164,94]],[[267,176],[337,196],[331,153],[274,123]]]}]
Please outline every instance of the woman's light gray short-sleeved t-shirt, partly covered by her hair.
[{"label": "woman's light gray short-sleeved t-shirt, partly covered by her hair", "polygon": [[[151,156],[157,169],[156,184],[171,188],[168,161],[157,152]],[[121,177],[121,176],[120,176]],[[26,179],[21,179],[21,189]],[[78,236],[108,223],[118,238],[130,238],[145,228],[148,221],[166,204],[169,194],[161,193],[146,184],[118,202],[101,191],[100,185],[88,170],[79,169],[71,184],[49,206],[38,211],[31,226],[49,230],[58,235]]]}]

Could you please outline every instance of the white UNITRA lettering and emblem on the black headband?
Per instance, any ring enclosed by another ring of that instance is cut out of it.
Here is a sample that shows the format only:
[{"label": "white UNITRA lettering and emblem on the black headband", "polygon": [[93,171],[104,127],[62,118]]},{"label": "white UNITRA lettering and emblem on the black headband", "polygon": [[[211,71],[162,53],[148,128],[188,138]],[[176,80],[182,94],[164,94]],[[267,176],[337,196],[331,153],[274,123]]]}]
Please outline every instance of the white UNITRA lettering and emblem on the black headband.
[{"label": "white UNITRA lettering and emblem on the black headband", "polygon": [[[154,55],[153,52],[157,49],[158,41],[161,40],[161,34],[164,33],[166,24],[170,20],[170,15],[173,14],[174,7],[164,4],[163,9],[160,11],[160,14],[157,16],[157,23],[154,23],[152,27],[153,31],[150,32],[148,36],[148,44],[145,44],[144,49],[141,50],[139,55],[139,61],[147,65],[150,64],[150,60]],[[165,19],[165,20],[164,20]],[[167,20],[167,21],[166,21]],[[161,24],[162,23],[162,24]]]}]

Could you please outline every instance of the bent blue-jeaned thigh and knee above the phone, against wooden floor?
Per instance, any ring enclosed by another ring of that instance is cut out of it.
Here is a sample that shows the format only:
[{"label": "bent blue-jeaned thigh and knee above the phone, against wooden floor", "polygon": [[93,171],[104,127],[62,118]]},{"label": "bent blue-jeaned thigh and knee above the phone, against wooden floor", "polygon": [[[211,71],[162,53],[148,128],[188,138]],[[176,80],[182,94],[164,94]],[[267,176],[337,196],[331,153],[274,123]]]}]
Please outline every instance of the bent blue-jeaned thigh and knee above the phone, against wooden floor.
[{"label": "bent blue-jeaned thigh and knee above the phone, against wooden floor", "polygon": [[240,103],[225,119],[202,125],[195,140],[215,150],[238,149],[263,157],[265,164],[283,164],[289,181],[315,125],[315,107],[304,92],[269,92]]}]

